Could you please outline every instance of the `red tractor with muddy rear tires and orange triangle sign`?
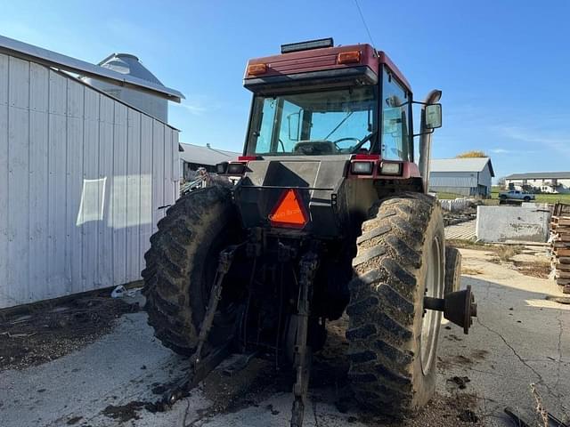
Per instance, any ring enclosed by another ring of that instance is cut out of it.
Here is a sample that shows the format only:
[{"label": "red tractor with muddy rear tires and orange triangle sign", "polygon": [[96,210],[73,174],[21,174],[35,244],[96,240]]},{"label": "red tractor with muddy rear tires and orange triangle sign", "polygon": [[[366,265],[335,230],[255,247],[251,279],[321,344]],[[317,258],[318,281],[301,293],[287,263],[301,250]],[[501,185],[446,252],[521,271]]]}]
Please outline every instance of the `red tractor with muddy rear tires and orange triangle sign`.
[{"label": "red tractor with muddy rear tires and orange triangle sign", "polygon": [[253,102],[243,156],[217,165],[239,181],[181,197],[146,254],[149,323],[191,356],[167,401],[237,351],[241,365],[256,356],[292,367],[300,426],[311,355],[326,322],[346,312],[354,398],[412,414],[435,390],[442,311],[466,333],[476,315],[426,194],[441,92],[413,101],[385,52],[330,38],[249,60],[244,85]]}]

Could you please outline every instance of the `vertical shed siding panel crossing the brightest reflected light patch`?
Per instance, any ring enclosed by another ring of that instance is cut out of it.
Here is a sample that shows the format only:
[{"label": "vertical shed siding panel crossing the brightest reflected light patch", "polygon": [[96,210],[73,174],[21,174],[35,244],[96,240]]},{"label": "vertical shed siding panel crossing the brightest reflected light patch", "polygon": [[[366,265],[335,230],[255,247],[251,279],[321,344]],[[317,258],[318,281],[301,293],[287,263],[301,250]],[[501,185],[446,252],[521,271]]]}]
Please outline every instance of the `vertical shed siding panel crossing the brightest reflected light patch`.
[{"label": "vertical shed siding panel crossing the brightest reflected light patch", "polygon": [[[83,229],[83,290],[99,287],[99,223],[104,181],[99,174],[99,107],[101,95],[85,89],[82,209],[77,222]],[[89,205],[90,209],[85,206]]]}]

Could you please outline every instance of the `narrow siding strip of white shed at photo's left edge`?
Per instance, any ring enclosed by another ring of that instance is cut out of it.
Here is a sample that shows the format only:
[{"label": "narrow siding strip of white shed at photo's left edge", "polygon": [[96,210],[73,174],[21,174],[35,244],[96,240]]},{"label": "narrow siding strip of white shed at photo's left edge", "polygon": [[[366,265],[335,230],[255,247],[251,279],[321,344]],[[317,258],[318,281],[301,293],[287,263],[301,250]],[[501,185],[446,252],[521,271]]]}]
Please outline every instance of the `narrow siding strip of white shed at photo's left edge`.
[{"label": "narrow siding strip of white shed at photo's left edge", "polygon": [[[0,93],[7,95],[8,80],[3,82],[2,61],[0,57]],[[7,62],[7,60],[6,60]],[[5,87],[4,87],[5,84]],[[4,89],[3,89],[4,88]],[[0,95],[1,96],[1,95]],[[0,195],[9,197],[8,187],[8,105],[7,99],[0,104]],[[8,297],[8,204],[0,202],[0,308],[12,305]]]}]

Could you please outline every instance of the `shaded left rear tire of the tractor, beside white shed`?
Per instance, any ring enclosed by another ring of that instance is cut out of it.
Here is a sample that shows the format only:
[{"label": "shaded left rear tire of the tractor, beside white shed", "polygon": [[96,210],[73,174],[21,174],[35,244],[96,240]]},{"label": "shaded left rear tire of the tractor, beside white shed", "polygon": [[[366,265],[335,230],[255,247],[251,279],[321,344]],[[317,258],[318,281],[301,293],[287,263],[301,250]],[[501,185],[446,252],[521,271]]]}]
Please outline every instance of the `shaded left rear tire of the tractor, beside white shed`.
[{"label": "shaded left rear tire of the tractor, beside white shed", "polygon": [[[177,353],[190,355],[195,350],[218,254],[239,240],[236,220],[230,190],[213,186],[180,197],[151,237],[142,271],[145,310],[157,338]],[[223,291],[205,354],[232,339],[235,297],[235,292]]]}]

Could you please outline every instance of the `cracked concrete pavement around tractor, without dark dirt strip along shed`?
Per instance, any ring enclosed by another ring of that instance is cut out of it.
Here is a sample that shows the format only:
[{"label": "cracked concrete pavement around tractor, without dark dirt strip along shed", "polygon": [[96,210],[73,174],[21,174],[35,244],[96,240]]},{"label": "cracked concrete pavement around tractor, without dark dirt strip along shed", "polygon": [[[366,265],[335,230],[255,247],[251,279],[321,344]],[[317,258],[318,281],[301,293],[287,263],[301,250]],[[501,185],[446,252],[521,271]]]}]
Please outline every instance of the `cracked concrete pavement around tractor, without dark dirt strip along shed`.
[{"label": "cracked concrete pavement around tractor, without dark dirt strip along shed", "polygon": [[[479,425],[511,425],[502,415],[506,406],[533,416],[531,383],[547,409],[570,418],[570,306],[544,299],[546,294],[559,294],[549,280],[497,264],[492,253],[461,252],[463,286],[473,287],[479,317],[468,335],[457,326],[442,327],[439,403],[403,425],[474,425],[462,424],[457,411],[440,414],[448,410],[446,399],[455,398],[473,402]],[[337,326],[334,339],[342,340],[342,327]],[[83,350],[38,367],[0,372],[0,425],[288,425],[289,384],[283,385],[282,378],[272,376],[271,367],[261,362],[236,378],[213,373],[167,412],[144,408],[159,398],[153,388],[157,391],[186,368],[184,359],[155,341],[144,313],[127,314],[110,334]],[[327,372],[321,376],[326,379]],[[346,392],[334,381],[313,387],[305,425],[382,425],[362,417],[355,407],[339,407]]]}]

